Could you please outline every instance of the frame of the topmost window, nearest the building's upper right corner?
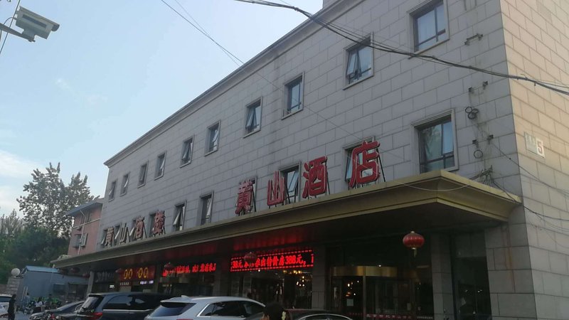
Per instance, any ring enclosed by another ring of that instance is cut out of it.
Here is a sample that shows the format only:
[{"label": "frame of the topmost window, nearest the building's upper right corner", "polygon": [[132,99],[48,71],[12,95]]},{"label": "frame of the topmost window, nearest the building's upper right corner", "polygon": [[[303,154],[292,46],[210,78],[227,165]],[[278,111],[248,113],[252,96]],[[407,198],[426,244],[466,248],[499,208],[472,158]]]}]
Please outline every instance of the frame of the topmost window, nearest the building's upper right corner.
[{"label": "frame of the topmost window, nearest the building's upper right corner", "polygon": [[[442,6],[442,15],[445,18],[445,21],[443,22],[445,29],[444,29],[444,33],[438,33],[437,31],[437,24],[440,22],[437,19],[437,7],[438,6]],[[435,36],[429,38],[427,41],[423,41],[422,43],[419,43],[419,33],[418,33],[418,19],[421,18],[422,16],[425,16],[427,14],[429,14],[431,11],[435,11]],[[448,41],[450,36],[449,36],[449,18],[448,18],[448,11],[447,11],[447,1],[446,0],[427,0],[424,1],[422,4],[419,4],[418,6],[415,6],[415,8],[411,9],[410,11],[408,11],[409,17],[410,17],[410,39],[413,39],[413,43],[412,43],[412,47],[415,53],[419,53],[419,52],[423,52],[425,50],[429,50],[430,48],[433,48],[435,46],[440,45],[441,43],[444,43],[445,41]],[[435,38],[435,43],[432,43],[429,46],[425,46],[423,48],[420,48],[420,45],[422,45],[423,43],[427,43],[428,41],[430,41],[432,38]]]}]

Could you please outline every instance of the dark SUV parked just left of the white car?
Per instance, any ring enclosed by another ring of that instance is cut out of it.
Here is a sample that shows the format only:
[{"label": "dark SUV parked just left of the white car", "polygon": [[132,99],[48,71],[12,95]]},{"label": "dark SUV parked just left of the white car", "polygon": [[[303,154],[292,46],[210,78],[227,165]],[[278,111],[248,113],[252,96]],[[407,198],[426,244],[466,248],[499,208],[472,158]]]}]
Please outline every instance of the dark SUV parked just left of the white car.
[{"label": "dark SUV parked just left of the white car", "polygon": [[80,307],[77,318],[81,320],[143,320],[160,301],[169,294],[153,292],[105,292],[89,294]]}]

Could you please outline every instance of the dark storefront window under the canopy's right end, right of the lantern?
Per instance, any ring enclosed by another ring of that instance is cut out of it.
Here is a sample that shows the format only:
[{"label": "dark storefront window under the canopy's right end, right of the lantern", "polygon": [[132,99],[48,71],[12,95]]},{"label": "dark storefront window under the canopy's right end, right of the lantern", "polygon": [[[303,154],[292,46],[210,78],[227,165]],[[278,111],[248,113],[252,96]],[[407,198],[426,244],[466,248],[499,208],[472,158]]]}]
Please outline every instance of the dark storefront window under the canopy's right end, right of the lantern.
[{"label": "dark storefront window under the canopy's right end, right of the lantern", "polygon": [[458,235],[452,240],[454,302],[457,319],[489,319],[492,311],[484,234]]}]

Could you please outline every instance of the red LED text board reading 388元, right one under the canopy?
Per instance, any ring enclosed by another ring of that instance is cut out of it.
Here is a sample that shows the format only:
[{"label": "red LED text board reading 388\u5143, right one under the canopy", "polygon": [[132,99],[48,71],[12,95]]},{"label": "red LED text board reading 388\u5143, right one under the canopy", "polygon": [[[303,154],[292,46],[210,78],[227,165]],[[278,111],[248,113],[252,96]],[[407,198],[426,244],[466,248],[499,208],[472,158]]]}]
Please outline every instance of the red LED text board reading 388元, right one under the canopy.
[{"label": "red LED text board reading 388\u5143, right one under the canopy", "polygon": [[257,256],[257,261],[252,263],[246,262],[244,257],[232,257],[230,272],[308,268],[313,266],[314,253],[312,250],[298,250],[260,254]]}]

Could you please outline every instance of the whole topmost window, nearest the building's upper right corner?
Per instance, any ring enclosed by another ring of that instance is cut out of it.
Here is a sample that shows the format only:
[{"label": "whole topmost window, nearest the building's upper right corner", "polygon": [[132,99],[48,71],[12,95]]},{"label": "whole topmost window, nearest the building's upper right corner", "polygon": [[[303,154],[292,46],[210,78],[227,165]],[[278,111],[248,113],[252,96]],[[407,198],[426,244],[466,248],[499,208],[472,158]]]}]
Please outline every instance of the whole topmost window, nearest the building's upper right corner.
[{"label": "whole topmost window, nearest the building's upper right corner", "polygon": [[415,51],[447,39],[447,18],[442,0],[433,1],[413,14]]}]

